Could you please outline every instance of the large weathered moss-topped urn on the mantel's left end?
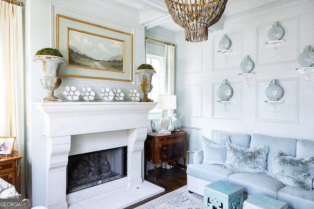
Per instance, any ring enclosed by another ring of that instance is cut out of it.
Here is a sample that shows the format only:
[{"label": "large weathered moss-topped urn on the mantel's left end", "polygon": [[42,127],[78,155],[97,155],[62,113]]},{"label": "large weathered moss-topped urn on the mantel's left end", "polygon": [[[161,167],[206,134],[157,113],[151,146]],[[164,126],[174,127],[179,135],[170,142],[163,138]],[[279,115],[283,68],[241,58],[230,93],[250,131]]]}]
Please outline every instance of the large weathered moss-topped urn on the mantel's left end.
[{"label": "large weathered moss-topped urn on the mantel's left end", "polygon": [[42,48],[38,50],[33,57],[33,61],[39,64],[40,84],[48,90],[47,95],[40,99],[41,102],[61,102],[60,98],[53,95],[53,91],[61,84],[61,78],[58,77],[60,64],[66,60],[56,48]]}]

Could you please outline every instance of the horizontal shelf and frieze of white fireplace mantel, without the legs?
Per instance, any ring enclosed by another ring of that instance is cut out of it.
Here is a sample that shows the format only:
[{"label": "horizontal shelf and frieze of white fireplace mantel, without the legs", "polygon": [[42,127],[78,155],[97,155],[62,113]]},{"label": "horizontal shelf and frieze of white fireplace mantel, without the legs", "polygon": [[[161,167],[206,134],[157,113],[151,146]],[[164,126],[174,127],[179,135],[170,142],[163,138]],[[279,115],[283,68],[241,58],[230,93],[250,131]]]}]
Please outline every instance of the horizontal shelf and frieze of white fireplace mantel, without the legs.
[{"label": "horizontal shelf and frieze of white fireplace mantel, without the legs", "polygon": [[[44,135],[60,137],[147,127],[157,102],[34,102],[44,116]],[[88,119],[87,119],[88,118]]]}]

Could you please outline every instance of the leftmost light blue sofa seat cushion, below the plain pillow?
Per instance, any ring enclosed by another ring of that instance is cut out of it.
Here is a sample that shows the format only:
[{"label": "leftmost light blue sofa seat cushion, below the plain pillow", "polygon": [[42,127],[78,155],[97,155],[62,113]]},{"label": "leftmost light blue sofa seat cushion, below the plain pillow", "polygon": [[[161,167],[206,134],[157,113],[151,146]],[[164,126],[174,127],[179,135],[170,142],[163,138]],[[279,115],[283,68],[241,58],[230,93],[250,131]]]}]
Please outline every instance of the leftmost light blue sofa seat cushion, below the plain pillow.
[{"label": "leftmost light blue sofa seat cushion, below the plain pillow", "polygon": [[218,180],[228,182],[228,177],[233,174],[231,170],[223,168],[223,165],[217,164],[188,164],[186,174],[207,180],[209,182],[216,182]]}]

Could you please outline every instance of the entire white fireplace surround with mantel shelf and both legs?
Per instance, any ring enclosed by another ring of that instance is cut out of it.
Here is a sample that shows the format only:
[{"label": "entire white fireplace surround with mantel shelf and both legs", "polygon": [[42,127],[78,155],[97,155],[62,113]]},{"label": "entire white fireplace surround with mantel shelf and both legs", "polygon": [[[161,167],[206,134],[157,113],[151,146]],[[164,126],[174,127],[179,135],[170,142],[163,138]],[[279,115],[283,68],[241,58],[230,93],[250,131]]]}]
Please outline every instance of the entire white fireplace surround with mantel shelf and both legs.
[{"label": "entire white fireplace surround with mantel shelf and both legs", "polygon": [[[75,203],[73,196],[82,198],[79,192],[73,192],[71,198],[66,195],[66,167],[73,135],[128,130],[125,186],[142,184],[141,152],[147,135],[148,112],[157,105],[156,102],[34,102],[33,104],[44,116],[45,206],[47,208],[67,209],[68,204]],[[88,192],[84,193],[84,198],[88,198]]]}]

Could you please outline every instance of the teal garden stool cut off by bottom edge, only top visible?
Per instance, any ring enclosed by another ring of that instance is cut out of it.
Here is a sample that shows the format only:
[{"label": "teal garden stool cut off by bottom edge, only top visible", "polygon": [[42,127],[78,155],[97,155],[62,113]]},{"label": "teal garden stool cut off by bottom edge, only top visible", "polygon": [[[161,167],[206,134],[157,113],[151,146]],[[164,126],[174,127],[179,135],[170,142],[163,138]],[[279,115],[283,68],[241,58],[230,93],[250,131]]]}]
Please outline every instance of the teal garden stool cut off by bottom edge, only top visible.
[{"label": "teal garden stool cut off by bottom edge, only top visible", "polygon": [[288,205],[283,201],[256,194],[244,201],[243,209],[288,209]]}]

